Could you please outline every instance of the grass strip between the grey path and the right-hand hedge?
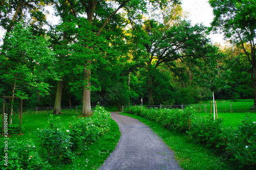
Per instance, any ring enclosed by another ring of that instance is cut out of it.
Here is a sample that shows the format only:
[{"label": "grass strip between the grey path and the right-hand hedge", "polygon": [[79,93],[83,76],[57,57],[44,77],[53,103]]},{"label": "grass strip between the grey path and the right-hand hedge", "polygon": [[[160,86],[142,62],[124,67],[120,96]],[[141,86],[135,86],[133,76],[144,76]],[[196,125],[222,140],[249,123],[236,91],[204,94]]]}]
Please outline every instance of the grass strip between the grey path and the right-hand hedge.
[{"label": "grass strip between the grey path and the right-hand hedge", "polygon": [[[150,126],[163,141],[176,152],[176,159],[181,167],[186,169],[232,169],[226,165],[225,157],[222,154],[214,155],[214,151],[204,148],[202,145],[189,141],[185,134],[170,131],[160,124],[147,120],[143,117],[121,113],[136,119]],[[224,153],[223,153],[224,154]]]}]

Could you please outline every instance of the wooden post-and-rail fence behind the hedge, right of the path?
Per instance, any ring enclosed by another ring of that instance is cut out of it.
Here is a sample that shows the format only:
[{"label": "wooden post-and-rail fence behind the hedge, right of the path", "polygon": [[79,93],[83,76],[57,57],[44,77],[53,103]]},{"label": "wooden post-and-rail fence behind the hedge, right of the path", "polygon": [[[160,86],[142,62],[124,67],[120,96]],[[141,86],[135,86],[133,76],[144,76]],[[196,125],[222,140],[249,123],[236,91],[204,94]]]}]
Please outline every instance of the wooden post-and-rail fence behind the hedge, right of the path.
[{"label": "wooden post-and-rail fence behind the hedge, right of the path", "polygon": [[[123,106],[122,111],[125,107]],[[193,107],[198,112],[210,112],[213,111],[214,106],[211,104],[198,104],[198,105],[154,105],[154,106],[143,106],[144,108],[166,108],[166,109],[184,109],[186,107]],[[256,105],[232,105],[230,104],[217,104],[218,112],[254,112],[256,111]]]}]

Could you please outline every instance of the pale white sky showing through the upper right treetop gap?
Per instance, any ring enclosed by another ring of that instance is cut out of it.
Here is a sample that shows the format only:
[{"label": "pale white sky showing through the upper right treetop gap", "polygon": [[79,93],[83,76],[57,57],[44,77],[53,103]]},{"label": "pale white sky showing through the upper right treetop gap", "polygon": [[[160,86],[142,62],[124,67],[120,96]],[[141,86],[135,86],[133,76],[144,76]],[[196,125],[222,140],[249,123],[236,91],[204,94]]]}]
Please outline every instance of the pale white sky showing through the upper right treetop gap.
[{"label": "pale white sky showing through the upper right treetop gap", "polygon": [[[210,27],[210,23],[214,19],[208,0],[182,0],[182,9],[188,12],[187,19],[191,20],[193,25],[203,23],[204,26]],[[213,34],[209,37],[214,43],[225,44],[221,34]]]}]

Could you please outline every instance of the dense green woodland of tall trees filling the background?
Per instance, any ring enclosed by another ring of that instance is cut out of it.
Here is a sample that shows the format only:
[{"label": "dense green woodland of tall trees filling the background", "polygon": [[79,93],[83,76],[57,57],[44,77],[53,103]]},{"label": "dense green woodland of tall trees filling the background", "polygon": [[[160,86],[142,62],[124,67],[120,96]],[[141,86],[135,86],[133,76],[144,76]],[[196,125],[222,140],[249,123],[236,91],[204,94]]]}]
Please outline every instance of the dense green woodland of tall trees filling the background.
[{"label": "dense green woodland of tall trees filling the background", "polygon": [[[209,3],[210,28],[191,25],[178,0],[0,1],[0,96],[56,114],[82,106],[83,115],[98,102],[191,104],[212,91],[256,103],[256,1]],[[49,6],[60,18],[54,25]],[[215,32],[227,45],[207,38]]]}]

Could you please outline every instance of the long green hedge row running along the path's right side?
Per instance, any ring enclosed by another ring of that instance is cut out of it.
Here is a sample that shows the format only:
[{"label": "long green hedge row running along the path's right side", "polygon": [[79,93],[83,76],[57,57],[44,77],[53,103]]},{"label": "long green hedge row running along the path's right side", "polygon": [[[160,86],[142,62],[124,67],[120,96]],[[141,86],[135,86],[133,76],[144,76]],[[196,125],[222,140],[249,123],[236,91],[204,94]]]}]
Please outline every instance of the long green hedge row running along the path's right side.
[{"label": "long green hedge row running along the path's right side", "polygon": [[193,108],[146,109],[135,106],[127,108],[125,112],[186,133],[190,140],[214,149],[236,169],[256,169],[256,124],[249,113],[237,128],[224,128],[222,119],[202,117]]}]

